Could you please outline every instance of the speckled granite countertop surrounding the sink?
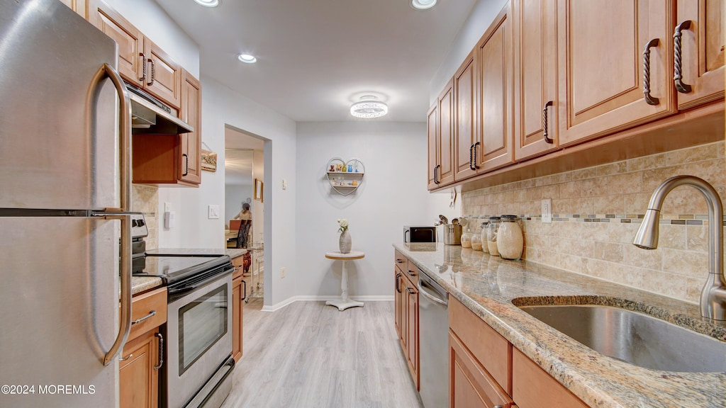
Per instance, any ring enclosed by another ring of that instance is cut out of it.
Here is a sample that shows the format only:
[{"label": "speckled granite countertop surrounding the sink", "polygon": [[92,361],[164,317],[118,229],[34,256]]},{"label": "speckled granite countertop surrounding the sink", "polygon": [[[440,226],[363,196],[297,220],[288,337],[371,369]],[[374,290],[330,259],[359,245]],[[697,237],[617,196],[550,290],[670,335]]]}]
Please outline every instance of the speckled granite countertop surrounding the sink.
[{"label": "speckled granite countertop surrounding the sink", "polygon": [[513,299],[518,304],[595,301],[726,341],[726,325],[704,322],[698,305],[459,245],[393,247],[591,407],[725,407],[726,372],[665,372],[611,359],[521,311]]}]

